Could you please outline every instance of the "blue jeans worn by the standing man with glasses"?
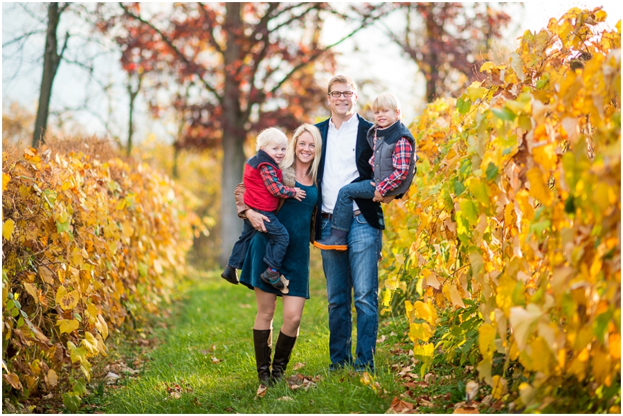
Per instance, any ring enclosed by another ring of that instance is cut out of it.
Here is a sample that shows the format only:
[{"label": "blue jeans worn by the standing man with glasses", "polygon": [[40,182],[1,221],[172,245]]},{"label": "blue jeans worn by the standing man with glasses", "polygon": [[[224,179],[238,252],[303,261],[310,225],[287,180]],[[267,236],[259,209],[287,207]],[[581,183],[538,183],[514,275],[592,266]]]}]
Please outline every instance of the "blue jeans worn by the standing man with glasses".
[{"label": "blue jeans worn by the standing man with glasses", "polygon": [[[352,364],[355,370],[374,370],[379,327],[379,256],[383,233],[368,225],[363,215],[352,220],[347,251],[323,250],[323,269],[329,300],[329,354],[331,367]],[[320,237],[331,233],[323,219]],[[351,293],[357,314],[357,344],[352,360]]]}]

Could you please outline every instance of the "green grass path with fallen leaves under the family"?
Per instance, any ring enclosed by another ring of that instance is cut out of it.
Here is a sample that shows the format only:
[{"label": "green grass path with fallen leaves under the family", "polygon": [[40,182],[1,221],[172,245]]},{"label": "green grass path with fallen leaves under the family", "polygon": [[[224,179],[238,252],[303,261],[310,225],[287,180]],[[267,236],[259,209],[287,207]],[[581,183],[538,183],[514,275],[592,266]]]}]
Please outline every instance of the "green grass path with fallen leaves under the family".
[{"label": "green grass path with fallen leaves under the family", "polygon": [[[125,379],[101,397],[106,413],[385,413],[404,391],[390,372],[389,346],[379,344],[373,383],[349,370],[329,373],[327,297],[318,251],[312,250],[311,299],[286,377],[319,376],[317,386],[290,390],[286,383],[255,397],[258,377],[252,343],[255,296],[205,273],[183,289],[167,327],[154,326],[158,340],[147,352],[140,376]],[[273,323],[281,327],[281,302]],[[213,347],[214,345],[214,347]],[[215,359],[220,360],[213,362]],[[304,367],[293,370],[296,363]],[[375,386],[374,381],[378,384]],[[377,387],[382,386],[382,388]],[[179,396],[179,397],[177,397]]]}]

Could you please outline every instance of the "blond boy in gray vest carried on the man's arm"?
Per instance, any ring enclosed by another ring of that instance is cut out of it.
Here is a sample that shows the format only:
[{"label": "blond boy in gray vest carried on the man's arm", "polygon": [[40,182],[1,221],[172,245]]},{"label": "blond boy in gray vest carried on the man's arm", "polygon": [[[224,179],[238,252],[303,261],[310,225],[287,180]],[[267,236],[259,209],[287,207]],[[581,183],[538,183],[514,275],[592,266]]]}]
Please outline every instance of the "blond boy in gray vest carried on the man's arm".
[{"label": "blond boy in gray vest carried on the man's arm", "polygon": [[370,165],[374,182],[349,183],[340,189],[331,217],[331,235],[314,242],[323,250],[347,250],[347,234],[353,219],[353,199],[373,199],[397,195],[401,198],[415,174],[415,138],[400,121],[400,103],[390,93],[378,96],[372,103],[374,125],[368,130],[372,147]]}]

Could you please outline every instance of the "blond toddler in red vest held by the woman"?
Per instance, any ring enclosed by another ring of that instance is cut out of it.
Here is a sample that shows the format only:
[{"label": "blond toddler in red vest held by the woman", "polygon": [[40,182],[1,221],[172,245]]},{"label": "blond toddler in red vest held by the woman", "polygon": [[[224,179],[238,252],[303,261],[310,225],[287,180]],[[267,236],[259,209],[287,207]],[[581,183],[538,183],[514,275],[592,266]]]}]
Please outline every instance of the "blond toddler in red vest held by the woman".
[{"label": "blond toddler in red vest held by the woman", "polygon": [[[270,221],[264,221],[269,237],[264,262],[269,266],[260,278],[279,290],[285,287],[280,279],[279,269],[288,247],[289,235],[275,216],[275,211],[280,198],[296,198],[299,201],[305,198],[304,190],[289,188],[281,183],[282,174],[279,163],[285,156],[287,144],[287,136],[278,129],[273,127],[264,129],[258,135],[255,147],[258,153],[246,161],[243,177],[244,204],[265,215]],[[227,266],[221,274],[222,278],[228,282],[238,283],[235,269],[242,269],[244,256],[255,231],[251,221],[244,219],[242,234],[234,244]]]}]

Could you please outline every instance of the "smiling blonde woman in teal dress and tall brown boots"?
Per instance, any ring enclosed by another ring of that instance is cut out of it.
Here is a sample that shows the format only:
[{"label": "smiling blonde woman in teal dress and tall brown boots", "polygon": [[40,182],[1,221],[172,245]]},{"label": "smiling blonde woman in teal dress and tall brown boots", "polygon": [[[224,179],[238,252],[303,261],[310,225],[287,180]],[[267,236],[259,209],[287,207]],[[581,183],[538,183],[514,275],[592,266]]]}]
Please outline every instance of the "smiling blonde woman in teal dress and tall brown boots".
[{"label": "smiling blonde woman in teal dress and tall brown boots", "polygon": [[[269,219],[244,205],[243,192],[237,192],[236,195],[238,215],[246,216],[256,230],[262,231],[255,233],[251,239],[240,273],[240,283],[255,291],[258,314],[253,325],[253,345],[258,378],[264,386],[282,379],[298,336],[305,300],[309,299],[309,243],[314,241],[312,219],[316,217],[318,201],[316,175],[321,146],[318,128],[309,124],[301,125],[294,132],[280,163],[283,184],[305,191],[305,198],[301,201],[294,198],[283,199],[276,213],[289,234],[289,244],[280,269],[283,278],[288,282],[287,288],[278,290],[260,278],[260,274],[267,269],[263,257],[269,239],[264,221]],[[273,316],[278,296],[283,301],[283,325],[271,362]]]}]

